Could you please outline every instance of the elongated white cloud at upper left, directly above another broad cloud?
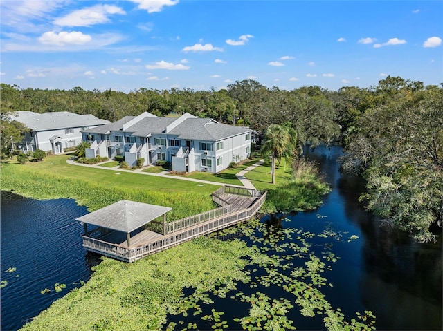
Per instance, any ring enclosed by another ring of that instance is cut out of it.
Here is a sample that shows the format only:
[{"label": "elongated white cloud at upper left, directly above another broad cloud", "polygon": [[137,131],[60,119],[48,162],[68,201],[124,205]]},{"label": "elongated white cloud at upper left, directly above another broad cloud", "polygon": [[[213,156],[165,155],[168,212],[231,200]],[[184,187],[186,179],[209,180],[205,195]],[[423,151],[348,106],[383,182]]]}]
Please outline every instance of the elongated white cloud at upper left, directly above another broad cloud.
[{"label": "elongated white cloud at upper left, directly above another broad cloud", "polygon": [[96,5],[75,10],[64,17],[55,19],[56,26],[93,26],[94,24],[108,23],[108,15],[125,15],[122,8],[113,5]]}]

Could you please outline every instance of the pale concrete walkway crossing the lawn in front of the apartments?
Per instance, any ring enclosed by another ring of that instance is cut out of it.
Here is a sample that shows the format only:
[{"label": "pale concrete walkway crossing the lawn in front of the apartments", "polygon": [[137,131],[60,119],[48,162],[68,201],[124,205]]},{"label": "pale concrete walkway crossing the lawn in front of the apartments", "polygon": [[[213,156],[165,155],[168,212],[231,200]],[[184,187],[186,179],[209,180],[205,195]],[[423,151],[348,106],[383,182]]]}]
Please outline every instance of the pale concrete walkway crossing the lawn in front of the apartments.
[{"label": "pale concrete walkway crossing the lawn in front of the apartments", "polygon": [[[222,182],[210,182],[208,180],[200,180],[200,179],[188,178],[188,177],[182,177],[182,176],[172,176],[172,175],[168,174],[169,171],[162,171],[161,173],[148,173],[148,172],[142,171],[142,170],[144,170],[146,168],[135,169],[135,170],[128,170],[128,169],[122,169],[122,168],[120,168],[118,166],[117,167],[112,167],[112,168],[100,167],[100,164],[106,163],[106,162],[109,162],[109,161],[98,163],[98,164],[84,164],[84,163],[74,162],[74,158],[70,158],[66,162],[68,162],[69,164],[80,166],[80,167],[105,169],[105,170],[111,170],[111,171],[118,171],[119,173],[120,172],[138,173],[138,174],[147,175],[147,176],[158,176],[158,177],[165,177],[165,178],[171,178],[171,179],[177,179],[177,180],[188,180],[190,182],[199,182],[201,184],[210,184],[210,185],[218,185],[218,186],[224,186],[225,185],[225,183],[222,183]],[[260,164],[263,164],[263,162],[264,162],[264,160],[260,160],[259,162],[255,163],[255,164],[251,165],[250,167],[247,167],[246,169],[244,169],[244,170],[240,171],[239,173],[237,173],[235,176],[237,176],[238,180],[240,182],[242,182],[242,185],[230,185],[230,186],[246,187],[248,189],[255,189],[254,185],[246,177],[244,177],[244,174],[247,173],[248,171],[251,171],[255,167],[258,167]]]}]

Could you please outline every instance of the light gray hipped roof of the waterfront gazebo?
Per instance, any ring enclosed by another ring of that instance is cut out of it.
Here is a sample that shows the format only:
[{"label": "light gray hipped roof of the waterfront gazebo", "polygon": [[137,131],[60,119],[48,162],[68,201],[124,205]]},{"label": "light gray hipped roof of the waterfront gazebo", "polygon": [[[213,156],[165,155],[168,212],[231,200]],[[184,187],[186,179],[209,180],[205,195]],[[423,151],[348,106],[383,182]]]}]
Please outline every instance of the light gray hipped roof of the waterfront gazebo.
[{"label": "light gray hipped roof of the waterfront gazebo", "polygon": [[120,200],[75,220],[129,234],[171,210],[170,207]]}]

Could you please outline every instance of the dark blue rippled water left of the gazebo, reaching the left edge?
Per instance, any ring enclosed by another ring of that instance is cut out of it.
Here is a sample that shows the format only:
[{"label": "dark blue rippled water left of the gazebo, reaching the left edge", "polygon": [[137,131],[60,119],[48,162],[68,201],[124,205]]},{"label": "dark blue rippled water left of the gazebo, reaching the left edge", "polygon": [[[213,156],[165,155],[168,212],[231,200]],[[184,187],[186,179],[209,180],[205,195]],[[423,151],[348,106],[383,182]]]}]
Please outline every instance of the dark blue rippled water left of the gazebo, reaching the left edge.
[{"label": "dark blue rippled water left of the gazebo, reaching the left edge", "polygon": [[[74,200],[34,200],[1,191],[1,330],[17,330],[91,275]],[[7,272],[10,268],[15,272]],[[55,292],[55,283],[66,284]],[[48,288],[51,292],[40,294]]]}]

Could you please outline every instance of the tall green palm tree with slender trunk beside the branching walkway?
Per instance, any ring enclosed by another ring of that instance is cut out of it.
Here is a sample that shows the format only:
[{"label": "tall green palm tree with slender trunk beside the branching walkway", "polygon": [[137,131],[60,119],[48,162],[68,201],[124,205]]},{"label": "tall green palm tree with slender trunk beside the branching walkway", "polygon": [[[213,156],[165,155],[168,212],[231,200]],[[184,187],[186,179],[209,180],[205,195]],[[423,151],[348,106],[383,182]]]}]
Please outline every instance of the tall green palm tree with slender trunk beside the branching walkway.
[{"label": "tall green palm tree with slender trunk beside the branching walkway", "polygon": [[265,133],[262,154],[272,154],[271,174],[272,184],[275,184],[275,158],[280,158],[287,150],[291,142],[291,136],[287,128],[278,124],[271,124]]}]

